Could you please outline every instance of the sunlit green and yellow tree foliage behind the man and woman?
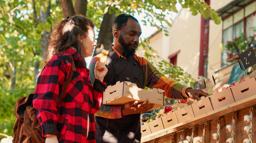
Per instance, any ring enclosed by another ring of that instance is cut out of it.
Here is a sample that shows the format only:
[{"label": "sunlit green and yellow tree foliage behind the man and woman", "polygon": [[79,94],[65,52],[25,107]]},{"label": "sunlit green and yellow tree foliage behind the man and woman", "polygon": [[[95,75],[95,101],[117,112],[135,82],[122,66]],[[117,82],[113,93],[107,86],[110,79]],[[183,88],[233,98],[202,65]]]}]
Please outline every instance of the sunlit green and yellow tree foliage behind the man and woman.
[{"label": "sunlit green and yellow tree foliage behind the man and woman", "polygon": [[[68,2],[72,4],[79,1],[82,0],[69,0]],[[171,26],[172,19],[167,19],[165,13],[177,13],[177,3],[180,3],[183,8],[189,8],[193,15],[200,13],[203,17],[210,17],[215,23],[220,23],[221,19],[218,14],[206,3],[199,0],[88,0],[87,11],[84,15],[94,21],[97,31],[100,32],[102,30],[101,23],[108,13],[114,14],[114,16],[120,13],[132,15],[143,13],[144,20],[141,24],[155,26],[168,35],[167,27],[164,25]],[[61,0],[0,0],[1,133],[13,135],[15,101],[34,91],[38,74],[44,66],[41,61],[45,60],[44,51],[47,47],[47,38],[45,39],[45,37],[49,37],[52,26],[62,20],[63,15],[65,17],[66,10],[61,4],[63,4]],[[191,78],[180,67],[161,60],[156,51],[148,46],[148,42],[148,39],[141,39],[140,43],[145,50],[144,57],[146,59],[169,78],[186,85],[193,85],[195,79]],[[154,62],[155,59],[160,62]]]}]

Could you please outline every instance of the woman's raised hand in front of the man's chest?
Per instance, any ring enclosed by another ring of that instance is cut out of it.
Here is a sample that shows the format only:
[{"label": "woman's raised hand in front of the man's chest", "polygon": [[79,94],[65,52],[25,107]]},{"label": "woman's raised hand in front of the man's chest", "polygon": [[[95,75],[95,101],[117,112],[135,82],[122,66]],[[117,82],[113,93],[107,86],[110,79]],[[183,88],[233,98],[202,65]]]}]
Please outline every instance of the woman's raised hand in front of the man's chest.
[{"label": "woman's raised hand in front of the man's chest", "polygon": [[97,61],[94,69],[94,73],[95,73],[95,78],[99,79],[100,81],[103,81],[104,76],[106,75],[106,73],[108,73],[108,69],[103,63],[99,63]]}]

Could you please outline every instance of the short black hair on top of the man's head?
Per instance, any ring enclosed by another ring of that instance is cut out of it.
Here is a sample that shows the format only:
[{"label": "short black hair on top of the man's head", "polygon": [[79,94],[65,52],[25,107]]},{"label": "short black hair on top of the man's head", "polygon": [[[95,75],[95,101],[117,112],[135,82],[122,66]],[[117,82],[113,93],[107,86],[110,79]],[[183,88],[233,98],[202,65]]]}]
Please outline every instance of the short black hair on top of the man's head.
[{"label": "short black hair on top of the man's head", "polygon": [[120,14],[115,18],[112,23],[112,31],[114,31],[115,29],[121,30],[121,28],[126,25],[128,18],[131,18],[139,23],[139,21],[130,14]]}]

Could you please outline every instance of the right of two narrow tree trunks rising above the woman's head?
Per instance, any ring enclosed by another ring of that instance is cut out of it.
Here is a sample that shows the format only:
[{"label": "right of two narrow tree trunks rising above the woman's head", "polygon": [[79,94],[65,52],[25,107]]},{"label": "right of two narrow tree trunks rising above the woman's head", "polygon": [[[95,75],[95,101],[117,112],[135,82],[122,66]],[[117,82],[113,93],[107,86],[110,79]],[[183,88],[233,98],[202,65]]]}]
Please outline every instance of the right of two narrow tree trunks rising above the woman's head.
[{"label": "right of two narrow tree trunks rising above the woman's head", "polygon": [[87,0],[75,0],[74,2],[75,14],[81,14],[86,16],[87,11]]}]

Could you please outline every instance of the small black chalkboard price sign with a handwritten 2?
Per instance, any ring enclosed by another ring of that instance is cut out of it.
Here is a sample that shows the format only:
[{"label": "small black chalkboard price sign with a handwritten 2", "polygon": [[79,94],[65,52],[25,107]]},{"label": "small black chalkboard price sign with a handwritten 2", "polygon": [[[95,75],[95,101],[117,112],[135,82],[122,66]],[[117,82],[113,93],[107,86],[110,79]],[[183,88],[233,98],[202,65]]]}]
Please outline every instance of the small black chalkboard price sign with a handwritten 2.
[{"label": "small black chalkboard price sign with a handwritten 2", "polygon": [[239,58],[242,61],[245,69],[248,69],[250,66],[256,64],[256,56],[254,54],[252,47],[250,47],[245,52],[239,54]]}]

